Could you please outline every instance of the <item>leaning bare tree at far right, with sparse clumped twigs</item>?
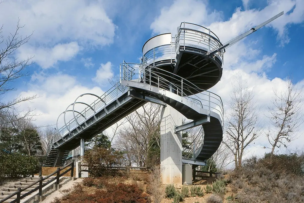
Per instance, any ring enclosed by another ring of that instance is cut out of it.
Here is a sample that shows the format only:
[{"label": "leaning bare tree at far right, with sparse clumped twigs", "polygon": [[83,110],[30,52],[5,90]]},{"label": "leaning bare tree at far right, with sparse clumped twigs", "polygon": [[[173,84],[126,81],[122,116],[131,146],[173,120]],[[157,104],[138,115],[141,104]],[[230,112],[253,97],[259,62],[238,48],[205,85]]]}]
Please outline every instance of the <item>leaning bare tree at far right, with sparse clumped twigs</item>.
[{"label": "leaning bare tree at far right, with sparse clumped twigs", "polygon": [[298,135],[303,123],[302,93],[303,88],[296,88],[291,79],[287,80],[285,91],[278,93],[274,90],[275,96],[271,100],[271,106],[268,106],[270,126],[266,133],[271,145],[271,156],[276,147],[287,147],[285,142],[291,142]]}]

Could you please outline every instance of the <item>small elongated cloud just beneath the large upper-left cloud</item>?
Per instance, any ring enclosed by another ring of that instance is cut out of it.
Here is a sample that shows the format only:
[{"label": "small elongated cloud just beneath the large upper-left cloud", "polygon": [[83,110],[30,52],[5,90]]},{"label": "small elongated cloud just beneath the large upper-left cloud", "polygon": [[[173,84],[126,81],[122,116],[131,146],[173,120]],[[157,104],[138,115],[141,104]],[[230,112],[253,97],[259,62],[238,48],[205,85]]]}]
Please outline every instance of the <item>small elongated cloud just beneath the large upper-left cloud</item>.
[{"label": "small elongated cloud just beneath the large upper-left cloud", "polygon": [[78,54],[81,47],[77,42],[67,44],[56,44],[52,48],[22,46],[19,48],[19,56],[26,58],[34,56],[34,60],[41,68],[53,67],[58,61],[69,61]]}]

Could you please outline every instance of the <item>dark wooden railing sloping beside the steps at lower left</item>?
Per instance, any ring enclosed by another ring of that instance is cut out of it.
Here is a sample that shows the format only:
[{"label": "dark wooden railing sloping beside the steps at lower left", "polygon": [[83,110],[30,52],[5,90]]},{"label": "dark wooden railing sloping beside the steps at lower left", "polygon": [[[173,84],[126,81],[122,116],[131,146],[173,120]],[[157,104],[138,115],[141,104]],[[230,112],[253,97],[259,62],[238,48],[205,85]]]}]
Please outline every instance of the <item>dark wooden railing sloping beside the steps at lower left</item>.
[{"label": "dark wooden railing sloping beside the steps at lower left", "polygon": [[[60,174],[60,171],[66,169],[67,167],[71,166],[69,169],[65,170],[63,173]],[[58,167],[56,171],[54,171],[53,173],[51,173],[50,175],[46,176],[46,177],[42,177],[42,170],[40,168],[40,172],[39,172],[39,180],[37,180],[36,182],[28,185],[27,187],[24,188],[18,188],[16,192],[10,194],[9,196],[7,196],[4,199],[0,200],[0,203],[12,198],[13,196],[17,195],[17,198],[13,201],[11,201],[11,203],[20,203],[20,200],[25,198],[26,196],[28,196],[29,194],[32,194],[33,192],[39,190],[39,196],[42,196],[42,188],[47,186],[48,184],[50,184],[51,182],[53,182],[54,180],[56,180],[56,185],[59,185],[60,181],[60,177],[62,177],[64,174],[68,173],[69,171],[71,171],[71,177],[74,177],[74,159],[72,159],[71,163],[63,166],[63,167]],[[46,183],[43,183],[44,180],[47,180],[48,178],[50,178],[51,176],[55,175],[55,177],[53,177],[52,179],[48,180]],[[25,194],[21,195],[21,192],[25,191],[26,189],[32,187],[33,185],[39,183],[39,186],[33,188],[32,190],[28,191]]]}]

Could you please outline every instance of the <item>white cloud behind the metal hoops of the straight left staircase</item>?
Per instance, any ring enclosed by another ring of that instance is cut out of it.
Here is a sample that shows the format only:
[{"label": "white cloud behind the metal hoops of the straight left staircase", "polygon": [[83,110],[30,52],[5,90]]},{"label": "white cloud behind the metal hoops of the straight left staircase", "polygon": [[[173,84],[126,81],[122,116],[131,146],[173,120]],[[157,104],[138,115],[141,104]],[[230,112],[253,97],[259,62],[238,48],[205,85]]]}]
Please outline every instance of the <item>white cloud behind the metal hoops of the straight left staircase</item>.
[{"label": "white cloud behind the metal hoops of the straight left staircase", "polygon": [[[32,76],[29,89],[21,92],[22,96],[38,94],[40,98],[32,102],[22,103],[21,108],[31,107],[35,113],[41,114],[36,117],[36,125],[56,124],[61,112],[83,93],[94,93],[101,96],[104,92],[99,87],[88,88],[82,86],[76,78],[66,74],[43,75],[34,74]],[[96,100],[94,96],[83,96],[79,101],[92,103]],[[75,110],[83,110],[85,105],[76,106]],[[72,118],[72,113],[67,113],[67,120]],[[59,127],[63,125],[63,117],[59,119]]]}]

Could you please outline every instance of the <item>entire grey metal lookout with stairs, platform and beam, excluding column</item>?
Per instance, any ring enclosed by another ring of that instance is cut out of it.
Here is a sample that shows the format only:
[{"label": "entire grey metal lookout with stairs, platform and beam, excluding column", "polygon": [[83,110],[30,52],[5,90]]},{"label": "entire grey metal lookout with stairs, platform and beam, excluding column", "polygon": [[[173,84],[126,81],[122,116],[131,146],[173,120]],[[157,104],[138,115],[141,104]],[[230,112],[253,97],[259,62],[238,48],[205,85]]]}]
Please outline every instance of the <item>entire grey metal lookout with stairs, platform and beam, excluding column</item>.
[{"label": "entire grey metal lookout with stairs, platform and beam, excluding column", "polygon": [[[102,96],[91,93],[78,96],[60,114],[64,126],[58,128],[58,117],[54,149],[75,149],[80,139],[91,139],[143,104],[153,102],[169,105],[193,120],[176,126],[176,132],[202,125],[202,143],[191,160],[183,159],[183,163],[204,164],[223,138],[223,102],[208,89],[222,76],[225,48],[282,14],[225,44],[210,29],[193,23],[181,23],[174,37],[164,33],[150,38],[143,45],[140,64],[124,62],[120,65],[120,81],[116,85]],[[94,96],[96,100],[85,103],[85,96]],[[75,110],[78,105],[84,106],[84,110]],[[73,115],[70,121],[66,120],[67,114]]]}]

